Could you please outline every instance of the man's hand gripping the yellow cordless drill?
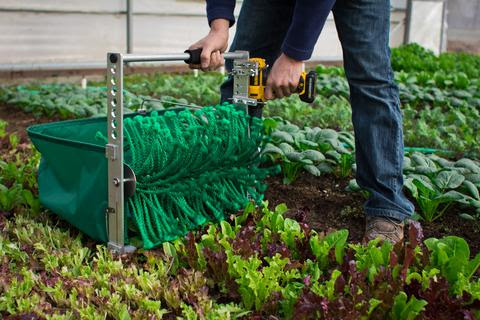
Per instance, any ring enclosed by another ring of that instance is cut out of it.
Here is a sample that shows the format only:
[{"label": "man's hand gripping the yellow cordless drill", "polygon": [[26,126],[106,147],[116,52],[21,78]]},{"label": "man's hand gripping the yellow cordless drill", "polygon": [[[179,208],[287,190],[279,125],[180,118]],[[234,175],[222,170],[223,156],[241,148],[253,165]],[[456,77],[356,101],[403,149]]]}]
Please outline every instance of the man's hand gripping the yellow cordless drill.
[{"label": "man's hand gripping the yellow cordless drill", "polygon": [[296,93],[302,71],[303,61],[294,60],[282,53],[268,75],[265,99],[289,97]]}]

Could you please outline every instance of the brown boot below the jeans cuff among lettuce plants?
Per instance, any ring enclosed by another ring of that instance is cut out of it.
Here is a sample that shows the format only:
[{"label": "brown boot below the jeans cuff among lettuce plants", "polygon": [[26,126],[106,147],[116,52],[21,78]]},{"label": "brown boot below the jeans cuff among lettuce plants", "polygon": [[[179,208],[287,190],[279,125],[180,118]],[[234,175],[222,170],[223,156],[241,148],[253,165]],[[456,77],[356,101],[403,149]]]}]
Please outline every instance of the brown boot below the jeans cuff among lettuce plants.
[{"label": "brown boot below the jeans cuff among lettuce plants", "polygon": [[393,244],[403,241],[403,222],[387,217],[367,217],[365,241],[380,238]]}]

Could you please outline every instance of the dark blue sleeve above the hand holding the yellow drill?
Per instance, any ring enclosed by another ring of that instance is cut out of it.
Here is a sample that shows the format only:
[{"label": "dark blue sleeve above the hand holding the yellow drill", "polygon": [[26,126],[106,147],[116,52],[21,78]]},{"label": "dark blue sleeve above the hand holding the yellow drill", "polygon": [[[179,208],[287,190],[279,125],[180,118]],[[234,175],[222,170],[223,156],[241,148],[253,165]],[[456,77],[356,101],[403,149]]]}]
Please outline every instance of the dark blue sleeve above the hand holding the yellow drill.
[{"label": "dark blue sleeve above the hand holding the yellow drill", "polygon": [[308,60],[335,0],[297,0],[282,52],[295,60]]}]

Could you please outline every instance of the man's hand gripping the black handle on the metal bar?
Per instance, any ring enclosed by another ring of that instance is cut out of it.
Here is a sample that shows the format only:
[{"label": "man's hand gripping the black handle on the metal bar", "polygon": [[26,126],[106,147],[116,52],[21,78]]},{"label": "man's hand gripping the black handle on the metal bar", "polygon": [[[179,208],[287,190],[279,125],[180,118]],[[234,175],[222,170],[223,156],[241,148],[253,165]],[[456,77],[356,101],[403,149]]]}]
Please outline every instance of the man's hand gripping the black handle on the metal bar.
[{"label": "man's hand gripping the black handle on the metal bar", "polygon": [[230,22],[225,19],[215,19],[210,24],[210,32],[200,41],[192,44],[190,50],[202,48],[201,64],[191,64],[191,69],[212,71],[224,65],[223,53],[228,47],[228,28]]}]

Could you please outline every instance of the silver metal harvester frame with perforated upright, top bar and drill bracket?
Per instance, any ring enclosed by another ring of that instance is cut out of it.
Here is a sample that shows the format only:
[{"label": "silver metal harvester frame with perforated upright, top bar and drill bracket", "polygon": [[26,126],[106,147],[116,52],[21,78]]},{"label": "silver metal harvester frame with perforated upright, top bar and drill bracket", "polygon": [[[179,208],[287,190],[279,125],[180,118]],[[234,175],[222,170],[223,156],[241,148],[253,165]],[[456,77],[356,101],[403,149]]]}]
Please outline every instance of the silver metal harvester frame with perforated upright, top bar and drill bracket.
[{"label": "silver metal harvester frame with perforated upright, top bar and drill bracket", "polygon": [[[123,70],[130,62],[186,61],[189,53],[163,55],[137,55],[107,53],[107,135],[105,156],[108,159],[108,207],[107,219],[108,247],[117,253],[132,252],[136,248],[125,245],[125,199],[135,193],[135,173],[123,163]],[[247,51],[224,54],[225,59],[233,60],[233,103],[255,106],[257,102],[248,97],[250,75],[255,74],[256,64],[248,61]]]}]

